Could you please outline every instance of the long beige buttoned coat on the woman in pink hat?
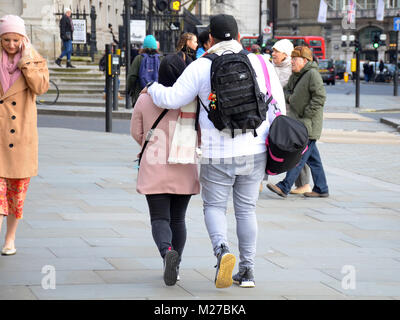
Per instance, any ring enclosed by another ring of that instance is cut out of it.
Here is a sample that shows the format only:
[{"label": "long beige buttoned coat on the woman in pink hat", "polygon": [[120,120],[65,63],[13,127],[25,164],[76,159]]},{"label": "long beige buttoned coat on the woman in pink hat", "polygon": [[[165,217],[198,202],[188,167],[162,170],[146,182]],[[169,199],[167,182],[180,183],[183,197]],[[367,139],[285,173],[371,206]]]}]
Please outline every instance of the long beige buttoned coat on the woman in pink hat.
[{"label": "long beige buttoned coat on the woman in pink hat", "polygon": [[[5,54],[0,47],[0,59]],[[22,58],[21,76],[3,92],[0,84],[0,177],[27,178],[38,171],[36,95],[47,92],[47,62],[34,49]],[[1,60],[0,60],[1,61]]]}]

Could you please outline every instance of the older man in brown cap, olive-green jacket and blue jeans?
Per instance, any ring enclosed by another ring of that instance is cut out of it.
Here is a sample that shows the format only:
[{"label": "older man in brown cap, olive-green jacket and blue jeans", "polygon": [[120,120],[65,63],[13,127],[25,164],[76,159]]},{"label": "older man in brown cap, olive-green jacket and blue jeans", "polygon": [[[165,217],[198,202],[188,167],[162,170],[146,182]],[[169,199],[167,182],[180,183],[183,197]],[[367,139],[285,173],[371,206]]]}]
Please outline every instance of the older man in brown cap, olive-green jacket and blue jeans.
[{"label": "older man in brown cap, olive-green jacket and blue jeans", "polygon": [[309,139],[308,149],[298,166],[287,172],[284,180],[276,185],[269,183],[267,187],[279,196],[286,198],[301,169],[307,163],[311,169],[314,187],[312,192],[306,192],[304,196],[328,197],[328,185],[316,144],[322,132],[326,91],[318,72],[318,65],[313,62],[312,53],[308,47],[294,48],[292,71],[289,82],[284,88],[286,103],[290,105],[288,115],[306,126]]}]

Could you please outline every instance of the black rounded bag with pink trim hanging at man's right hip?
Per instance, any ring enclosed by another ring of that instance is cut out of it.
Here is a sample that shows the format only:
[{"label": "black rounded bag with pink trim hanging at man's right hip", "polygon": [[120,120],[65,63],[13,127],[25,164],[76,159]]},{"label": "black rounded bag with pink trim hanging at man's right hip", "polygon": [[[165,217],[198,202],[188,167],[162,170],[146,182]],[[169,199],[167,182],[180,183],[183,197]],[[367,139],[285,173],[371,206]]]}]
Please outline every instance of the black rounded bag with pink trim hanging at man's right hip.
[{"label": "black rounded bag with pink trim hanging at man's right hip", "polygon": [[266,140],[268,155],[265,173],[276,175],[294,168],[307,150],[306,126],[294,118],[277,116]]}]

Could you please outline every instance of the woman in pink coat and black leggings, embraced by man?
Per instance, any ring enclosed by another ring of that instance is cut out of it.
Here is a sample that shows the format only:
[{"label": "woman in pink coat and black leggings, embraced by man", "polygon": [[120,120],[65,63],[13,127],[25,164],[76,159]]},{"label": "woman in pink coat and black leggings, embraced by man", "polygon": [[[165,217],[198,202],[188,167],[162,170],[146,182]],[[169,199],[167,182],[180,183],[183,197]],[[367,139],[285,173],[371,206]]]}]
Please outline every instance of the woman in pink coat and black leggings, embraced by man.
[{"label": "woman in pink coat and black leggings, embraced by man", "polygon": [[[165,57],[159,83],[172,86],[186,67],[177,55]],[[153,123],[163,112],[148,94],[141,94],[131,119],[131,135],[143,147]],[[146,195],[153,239],[164,260],[164,282],[178,280],[179,263],[186,242],[185,215],[190,198],[200,192],[196,164],[170,164],[167,159],[180,109],[169,110],[157,125],[143,152],[137,191]]]}]

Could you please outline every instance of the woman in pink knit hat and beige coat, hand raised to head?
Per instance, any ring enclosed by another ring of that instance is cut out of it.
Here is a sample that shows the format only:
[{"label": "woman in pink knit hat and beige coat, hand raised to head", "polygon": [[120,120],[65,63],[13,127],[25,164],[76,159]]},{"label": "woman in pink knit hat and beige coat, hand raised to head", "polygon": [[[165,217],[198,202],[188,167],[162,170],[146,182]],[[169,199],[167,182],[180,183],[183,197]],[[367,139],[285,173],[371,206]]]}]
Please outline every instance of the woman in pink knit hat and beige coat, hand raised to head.
[{"label": "woman in pink knit hat and beige coat, hand raised to head", "polygon": [[7,216],[1,253],[14,255],[25,195],[38,170],[36,95],[48,90],[49,71],[20,17],[0,18],[0,43],[0,230]]}]

